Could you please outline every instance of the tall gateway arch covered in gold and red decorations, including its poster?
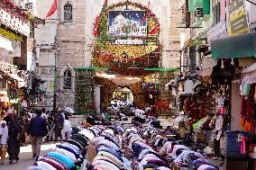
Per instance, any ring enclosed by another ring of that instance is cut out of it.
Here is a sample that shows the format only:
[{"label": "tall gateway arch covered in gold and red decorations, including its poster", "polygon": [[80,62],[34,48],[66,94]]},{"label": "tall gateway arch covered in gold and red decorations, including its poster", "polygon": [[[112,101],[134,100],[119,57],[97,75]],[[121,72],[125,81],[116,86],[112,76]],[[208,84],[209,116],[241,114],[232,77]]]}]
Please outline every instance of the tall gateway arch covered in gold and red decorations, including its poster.
[{"label": "tall gateway arch covered in gold and red decorations, including its poster", "polygon": [[[96,84],[102,85],[103,106],[111,103],[114,90],[125,84],[133,91],[134,104],[143,107],[147,89],[144,76],[152,74],[149,68],[158,68],[160,63],[158,18],[148,6],[126,1],[106,8],[95,24],[92,66],[105,67],[107,71],[100,74],[115,76],[95,78]],[[134,77],[140,81],[133,82]]]}]

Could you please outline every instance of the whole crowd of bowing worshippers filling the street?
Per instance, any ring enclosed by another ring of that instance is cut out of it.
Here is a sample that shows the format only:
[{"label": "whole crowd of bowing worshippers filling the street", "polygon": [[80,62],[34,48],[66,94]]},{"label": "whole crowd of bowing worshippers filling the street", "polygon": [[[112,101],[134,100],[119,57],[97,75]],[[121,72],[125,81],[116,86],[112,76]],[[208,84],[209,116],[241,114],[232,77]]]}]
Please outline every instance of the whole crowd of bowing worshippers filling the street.
[{"label": "whole crowd of bowing worshippers filling the street", "polygon": [[[133,125],[125,130],[120,122],[100,125],[90,124],[88,119],[87,126],[74,127],[75,132],[69,140],[40,157],[28,169],[218,170],[203,153],[191,147],[192,141],[187,140],[182,123],[180,130],[172,127],[161,130],[160,121],[149,112],[151,110],[142,112],[137,109]],[[146,119],[148,126],[136,118]]]}]

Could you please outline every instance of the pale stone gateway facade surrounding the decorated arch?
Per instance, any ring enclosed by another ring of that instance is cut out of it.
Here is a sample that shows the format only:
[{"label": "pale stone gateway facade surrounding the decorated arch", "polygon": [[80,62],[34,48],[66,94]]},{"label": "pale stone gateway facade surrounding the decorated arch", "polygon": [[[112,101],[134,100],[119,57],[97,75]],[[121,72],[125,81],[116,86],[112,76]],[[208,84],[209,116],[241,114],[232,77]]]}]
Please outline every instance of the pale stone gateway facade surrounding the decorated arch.
[{"label": "pale stone gateway facade surrounding the decorated arch", "polygon": [[[102,12],[104,1],[60,0],[57,12],[49,18],[45,18],[53,1],[49,0],[48,2],[37,2],[37,15],[45,19],[45,24],[35,29],[37,57],[39,58],[38,75],[46,80],[41,87],[47,92],[45,100],[38,106],[48,107],[49,110],[52,108],[55,66],[57,70],[55,92],[57,93],[58,107],[69,106],[76,110],[78,98],[85,98],[83,100],[87,105],[88,103],[95,104],[96,82],[93,75],[96,74],[96,67],[92,61],[93,51],[96,47],[94,27],[96,16]],[[109,0],[107,6],[125,2]],[[178,6],[171,5],[175,3],[169,0],[134,0],[131,3],[145,6],[159,20],[161,45],[159,66],[163,68],[179,67],[179,52],[176,51],[180,46],[179,32],[176,28],[178,16],[173,13],[173,18],[169,17],[172,15],[171,11]],[[172,29],[169,29],[170,25],[173,26]],[[138,29],[142,28],[138,27]],[[133,31],[136,31],[135,27],[133,27]],[[54,42],[58,43],[57,51],[52,49]],[[79,71],[78,68],[84,70]],[[78,76],[83,76],[83,78],[78,79]],[[80,91],[79,94],[78,85],[80,84],[84,86],[84,91]],[[79,96],[81,93],[85,93],[87,96]]]}]

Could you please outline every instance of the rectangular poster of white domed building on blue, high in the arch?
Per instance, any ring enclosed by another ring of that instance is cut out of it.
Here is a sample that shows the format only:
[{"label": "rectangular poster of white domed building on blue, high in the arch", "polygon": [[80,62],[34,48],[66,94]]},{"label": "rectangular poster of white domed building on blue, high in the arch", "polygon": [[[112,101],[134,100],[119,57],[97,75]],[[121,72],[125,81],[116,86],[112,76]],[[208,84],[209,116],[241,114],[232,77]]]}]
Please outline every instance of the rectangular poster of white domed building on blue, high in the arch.
[{"label": "rectangular poster of white domed building on blue, high in the arch", "polygon": [[109,11],[108,32],[112,37],[146,37],[147,11]]}]

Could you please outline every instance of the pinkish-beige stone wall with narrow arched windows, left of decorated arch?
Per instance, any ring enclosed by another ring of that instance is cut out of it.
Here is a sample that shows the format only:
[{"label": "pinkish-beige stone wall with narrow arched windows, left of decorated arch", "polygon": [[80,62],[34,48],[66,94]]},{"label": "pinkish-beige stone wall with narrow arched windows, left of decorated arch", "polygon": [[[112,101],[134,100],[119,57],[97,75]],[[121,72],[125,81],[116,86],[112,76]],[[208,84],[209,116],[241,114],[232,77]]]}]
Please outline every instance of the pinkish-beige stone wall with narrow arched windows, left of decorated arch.
[{"label": "pinkish-beige stone wall with narrow arched windows, left of decorated arch", "polygon": [[64,22],[63,7],[68,0],[59,1],[58,11],[58,43],[59,53],[57,57],[57,106],[74,107],[75,91],[74,89],[60,90],[60,72],[63,67],[85,67],[85,31],[86,19],[91,15],[86,15],[86,0],[69,0],[73,7],[73,21]]}]

